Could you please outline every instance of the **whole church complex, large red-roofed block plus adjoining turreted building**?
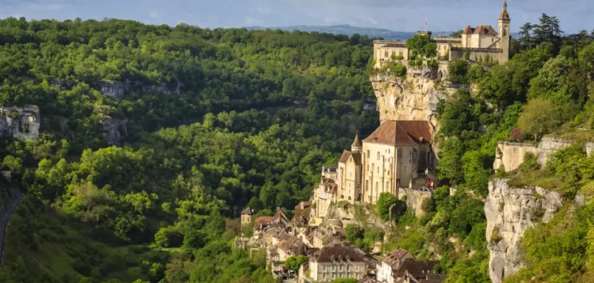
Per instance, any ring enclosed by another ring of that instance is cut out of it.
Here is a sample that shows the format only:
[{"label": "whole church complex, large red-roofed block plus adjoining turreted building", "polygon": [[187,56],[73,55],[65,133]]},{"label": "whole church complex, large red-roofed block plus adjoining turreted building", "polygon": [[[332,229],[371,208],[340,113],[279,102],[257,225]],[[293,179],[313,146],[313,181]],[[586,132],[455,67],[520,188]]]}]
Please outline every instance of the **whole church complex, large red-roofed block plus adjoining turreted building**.
[{"label": "whole church complex, large red-roofed block plus adjoining turreted building", "polygon": [[429,122],[403,120],[383,122],[363,141],[356,135],[337,164],[336,200],[375,204],[382,192],[399,197],[400,187],[430,187],[436,166],[431,136]]}]

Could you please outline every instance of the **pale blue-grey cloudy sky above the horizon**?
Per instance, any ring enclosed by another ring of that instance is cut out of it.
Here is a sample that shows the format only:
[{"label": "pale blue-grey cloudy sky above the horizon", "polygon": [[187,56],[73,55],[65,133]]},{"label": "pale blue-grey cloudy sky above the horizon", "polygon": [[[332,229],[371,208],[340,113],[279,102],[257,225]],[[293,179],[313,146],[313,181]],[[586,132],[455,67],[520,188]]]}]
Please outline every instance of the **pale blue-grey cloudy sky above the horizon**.
[{"label": "pale blue-grey cloudy sky above the horizon", "polygon": [[[124,18],[148,24],[201,28],[355,25],[396,31],[460,30],[496,25],[499,0],[0,0],[0,18]],[[557,16],[566,33],[593,30],[593,0],[509,0],[512,31]]]}]

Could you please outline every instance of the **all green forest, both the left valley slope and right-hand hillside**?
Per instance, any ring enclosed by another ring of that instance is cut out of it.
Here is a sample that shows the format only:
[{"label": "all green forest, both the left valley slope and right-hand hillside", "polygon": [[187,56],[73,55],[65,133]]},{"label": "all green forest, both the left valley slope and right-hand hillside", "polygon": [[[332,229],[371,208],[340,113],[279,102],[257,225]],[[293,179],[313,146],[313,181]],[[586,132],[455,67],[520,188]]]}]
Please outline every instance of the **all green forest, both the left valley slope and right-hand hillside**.
[{"label": "all green forest, both the left valley slope and right-hand hillside", "polygon": [[[526,158],[517,172],[492,169],[499,140],[592,137],[576,128],[594,125],[594,34],[561,34],[557,18],[543,14],[523,25],[509,62],[450,63],[460,89],[437,106],[443,187],[424,217],[396,220],[384,251],[441,255],[436,270],[447,282],[490,282],[482,198],[491,178],[542,184],[566,200],[593,193],[592,158],[578,145],[546,168]],[[321,167],[379,125],[378,112],[366,110],[375,105],[372,45],[359,35],[0,20],[0,105],[37,105],[41,115],[39,139],[0,140],[13,175],[0,197],[11,187],[25,195],[0,282],[276,282],[265,254],[232,248],[250,233],[240,209],[269,216],[282,207],[291,218]],[[131,86],[123,98],[99,91],[114,82]],[[117,146],[106,119],[128,121]],[[380,216],[401,201],[383,196]],[[508,281],[588,282],[592,209],[568,201],[529,229],[528,263]],[[384,233],[347,226],[363,249]]]}]

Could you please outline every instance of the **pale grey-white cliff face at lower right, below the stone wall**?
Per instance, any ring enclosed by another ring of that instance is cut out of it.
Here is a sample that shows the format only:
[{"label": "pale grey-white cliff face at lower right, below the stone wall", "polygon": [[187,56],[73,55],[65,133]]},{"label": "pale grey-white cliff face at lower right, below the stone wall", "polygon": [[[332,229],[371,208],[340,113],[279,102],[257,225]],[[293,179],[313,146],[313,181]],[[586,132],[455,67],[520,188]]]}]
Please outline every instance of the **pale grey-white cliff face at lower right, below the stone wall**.
[{"label": "pale grey-white cliff face at lower right, below the stone wall", "polygon": [[499,283],[524,267],[521,261],[524,231],[537,221],[549,221],[562,205],[559,193],[541,187],[511,188],[505,179],[489,183],[484,213],[492,282]]}]

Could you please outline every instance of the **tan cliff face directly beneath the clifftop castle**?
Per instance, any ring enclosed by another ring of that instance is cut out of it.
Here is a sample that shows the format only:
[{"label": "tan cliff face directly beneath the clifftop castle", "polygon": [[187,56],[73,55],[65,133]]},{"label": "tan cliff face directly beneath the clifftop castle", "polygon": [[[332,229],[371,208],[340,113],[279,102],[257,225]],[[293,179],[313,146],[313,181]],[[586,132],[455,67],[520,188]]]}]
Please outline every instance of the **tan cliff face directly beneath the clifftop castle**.
[{"label": "tan cliff face directly beneath the clifftop castle", "polygon": [[409,69],[406,79],[385,74],[371,77],[380,121],[428,120],[431,125],[437,126],[435,112],[438,101],[456,91],[454,86],[436,88],[445,69],[447,65],[440,65],[437,71]]}]

